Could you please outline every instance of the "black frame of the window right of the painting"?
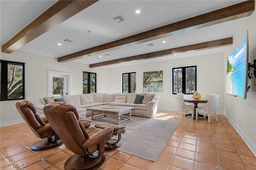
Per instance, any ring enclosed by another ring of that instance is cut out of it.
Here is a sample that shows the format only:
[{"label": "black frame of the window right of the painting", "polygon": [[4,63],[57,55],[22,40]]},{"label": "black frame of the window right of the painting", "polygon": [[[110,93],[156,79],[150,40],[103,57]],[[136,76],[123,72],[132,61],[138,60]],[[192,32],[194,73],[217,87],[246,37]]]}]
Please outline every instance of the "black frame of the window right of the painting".
[{"label": "black frame of the window right of the painting", "polygon": [[177,93],[174,93],[174,69],[182,69],[182,91],[180,93],[189,94],[189,95],[194,94],[194,92],[186,93],[186,68],[190,68],[190,67],[195,67],[195,91],[197,91],[196,90],[196,65],[186,66],[186,67],[176,67],[176,68],[172,68],[172,94],[173,95],[177,94]]}]

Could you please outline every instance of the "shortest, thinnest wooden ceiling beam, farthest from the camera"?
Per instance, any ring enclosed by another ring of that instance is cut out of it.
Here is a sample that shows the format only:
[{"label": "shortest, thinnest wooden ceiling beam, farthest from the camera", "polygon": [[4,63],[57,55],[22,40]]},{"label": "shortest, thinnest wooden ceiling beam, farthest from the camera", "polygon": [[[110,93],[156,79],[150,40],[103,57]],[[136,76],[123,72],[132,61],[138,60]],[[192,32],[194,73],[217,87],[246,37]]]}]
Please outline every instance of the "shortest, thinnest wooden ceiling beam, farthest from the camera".
[{"label": "shortest, thinnest wooden ceiling beam, farthest from the camera", "polygon": [[115,59],[115,60],[111,60],[111,61],[105,61],[105,62],[101,62],[101,63],[94,63],[94,64],[90,64],[90,68],[106,66],[106,65],[113,65],[113,64],[123,63],[123,62],[127,62],[127,61],[164,57],[167,55],[180,53],[180,52],[198,51],[198,50],[202,50],[202,49],[223,47],[223,46],[227,46],[227,45],[232,45],[232,43],[233,43],[232,37],[224,38],[224,39],[220,39],[220,40],[214,40],[214,41],[204,42],[204,43],[197,43],[197,44],[193,44],[193,45],[187,45],[187,46],[183,46],[183,47],[166,49],[166,50],[156,51],[156,52],[152,52],[152,53],[134,55],[132,57],[125,57],[125,58]]}]

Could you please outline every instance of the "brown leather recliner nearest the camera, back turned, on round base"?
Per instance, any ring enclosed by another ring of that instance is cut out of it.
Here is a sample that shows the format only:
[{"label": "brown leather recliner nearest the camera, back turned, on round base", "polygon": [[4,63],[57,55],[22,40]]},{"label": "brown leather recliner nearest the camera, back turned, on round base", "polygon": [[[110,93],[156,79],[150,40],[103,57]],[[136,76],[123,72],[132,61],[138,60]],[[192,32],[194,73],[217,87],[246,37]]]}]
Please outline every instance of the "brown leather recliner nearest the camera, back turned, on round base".
[{"label": "brown leather recliner nearest the camera, back turned, on round base", "polygon": [[66,170],[96,169],[104,163],[104,145],[113,136],[112,127],[89,127],[89,122],[80,121],[76,108],[68,103],[49,103],[44,114],[66,148],[75,153],[65,162]]}]

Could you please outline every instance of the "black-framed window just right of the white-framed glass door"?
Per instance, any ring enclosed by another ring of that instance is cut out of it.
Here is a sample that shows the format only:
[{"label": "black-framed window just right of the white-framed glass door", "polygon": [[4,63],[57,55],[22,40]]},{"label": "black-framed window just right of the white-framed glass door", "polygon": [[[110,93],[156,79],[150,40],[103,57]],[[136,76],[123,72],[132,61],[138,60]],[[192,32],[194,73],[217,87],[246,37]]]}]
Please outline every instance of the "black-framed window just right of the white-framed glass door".
[{"label": "black-framed window just right of the white-framed glass door", "polygon": [[83,94],[96,93],[96,73],[83,72]]}]

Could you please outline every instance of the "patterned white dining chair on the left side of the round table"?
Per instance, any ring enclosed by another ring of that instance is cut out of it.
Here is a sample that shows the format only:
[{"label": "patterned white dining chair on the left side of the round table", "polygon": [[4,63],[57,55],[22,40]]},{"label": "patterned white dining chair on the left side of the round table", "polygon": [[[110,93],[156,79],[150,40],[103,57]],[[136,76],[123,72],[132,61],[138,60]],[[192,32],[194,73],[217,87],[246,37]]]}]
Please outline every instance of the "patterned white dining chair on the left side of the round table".
[{"label": "patterned white dining chair on the left side of the round table", "polygon": [[184,116],[187,115],[188,112],[192,111],[192,117],[193,117],[193,111],[194,108],[186,105],[186,103],[183,100],[183,95],[175,95],[175,103],[176,103],[176,115],[178,115],[179,112],[182,112],[182,119]]}]

